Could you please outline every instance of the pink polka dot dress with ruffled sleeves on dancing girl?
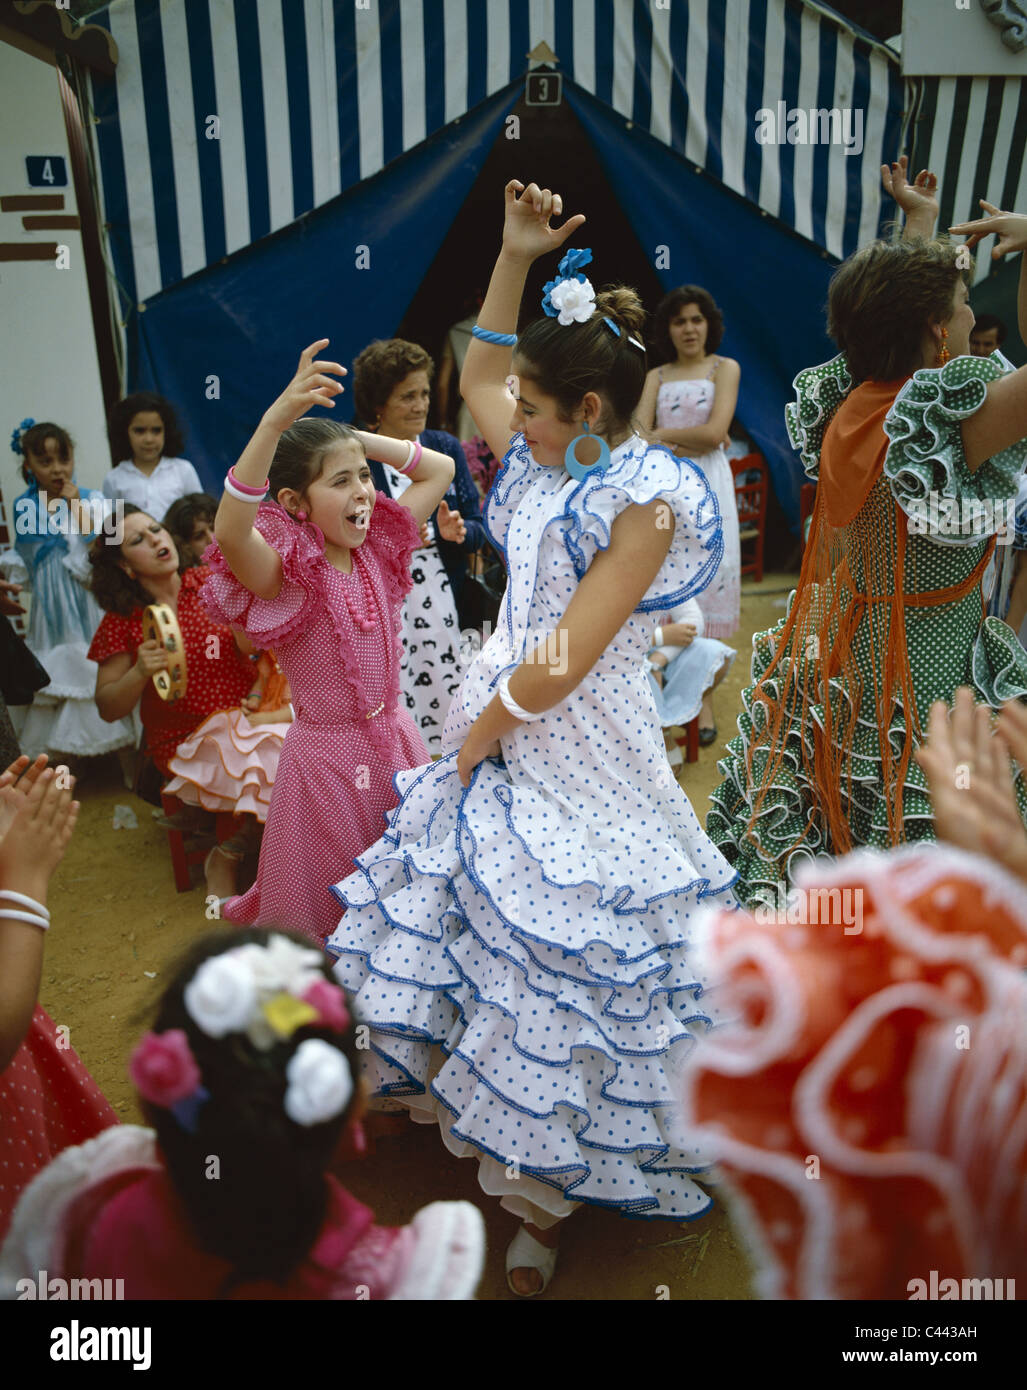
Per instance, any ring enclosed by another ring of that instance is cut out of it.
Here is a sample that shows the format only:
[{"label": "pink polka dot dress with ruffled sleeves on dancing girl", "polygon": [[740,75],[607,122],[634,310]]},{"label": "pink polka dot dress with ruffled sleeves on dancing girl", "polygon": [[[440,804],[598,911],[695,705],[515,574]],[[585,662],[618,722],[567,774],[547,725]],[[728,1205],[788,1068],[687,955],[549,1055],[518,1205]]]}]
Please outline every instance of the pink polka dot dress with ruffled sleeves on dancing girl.
[{"label": "pink polka dot dress with ruffled sleeves on dancing girl", "polygon": [[397,802],[393,776],[429,763],[414,721],[399,705],[400,610],[410,557],[421,543],[410,512],[377,495],[353,573],[324,556],[324,537],[277,502],[256,527],[282,557],[282,588],[256,598],[220,548],[204,555],[210,614],[274,646],[292,688],[285,735],[260,851],[257,881],[229,898],[222,916],[240,926],[279,926],[324,944],[339,920],[329,884],[382,834]]}]

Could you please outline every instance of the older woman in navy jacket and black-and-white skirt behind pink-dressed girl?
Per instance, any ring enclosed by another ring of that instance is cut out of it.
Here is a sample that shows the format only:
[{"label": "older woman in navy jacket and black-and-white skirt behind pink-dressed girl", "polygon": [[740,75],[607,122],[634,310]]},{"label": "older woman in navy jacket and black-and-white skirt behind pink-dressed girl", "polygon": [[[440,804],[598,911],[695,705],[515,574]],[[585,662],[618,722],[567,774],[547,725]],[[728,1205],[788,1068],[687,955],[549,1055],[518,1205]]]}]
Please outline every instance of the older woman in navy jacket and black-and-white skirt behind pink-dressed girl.
[{"label": "older woman in navy jacket and black-and-white skirt behind pink-dressed girl", "polygon": [[[400,689],[428,752],[442,751],[442,726],[460,687],[460,598],[467,555],[485,543],[481,502],[460,441],[425,430],[435,367],[417,343],[402,338],[372,342],[353,363],[353,396],[365,428],[393,439],[411,439],[449,455],[453,485],[427,523],[424,549],[414,556],[414,588],[403,609]],[[371,461],[375,488],[399,498],[410,480]],[[435,543],[438,539],[438,545]]]}]

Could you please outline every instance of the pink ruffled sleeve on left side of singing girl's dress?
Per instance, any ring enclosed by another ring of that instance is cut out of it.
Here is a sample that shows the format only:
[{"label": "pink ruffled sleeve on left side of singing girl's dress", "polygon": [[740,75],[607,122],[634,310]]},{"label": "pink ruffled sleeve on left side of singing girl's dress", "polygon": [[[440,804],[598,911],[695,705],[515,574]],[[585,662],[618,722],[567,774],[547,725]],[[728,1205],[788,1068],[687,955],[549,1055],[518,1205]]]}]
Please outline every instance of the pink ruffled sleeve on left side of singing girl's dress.
[{"label": "pink ruffled sleeve on left side of singing girl's dress", "polygon": [[324,606],[324,535],[310,521],[293,521],[277,502],[261,502],[254,525],[282,557],[282,587],[275,598],[260,599],[240,584],[217,541],[203,555],[210,574],[200,598],[215,623],[242,628],[256,646],[284,646]]}]

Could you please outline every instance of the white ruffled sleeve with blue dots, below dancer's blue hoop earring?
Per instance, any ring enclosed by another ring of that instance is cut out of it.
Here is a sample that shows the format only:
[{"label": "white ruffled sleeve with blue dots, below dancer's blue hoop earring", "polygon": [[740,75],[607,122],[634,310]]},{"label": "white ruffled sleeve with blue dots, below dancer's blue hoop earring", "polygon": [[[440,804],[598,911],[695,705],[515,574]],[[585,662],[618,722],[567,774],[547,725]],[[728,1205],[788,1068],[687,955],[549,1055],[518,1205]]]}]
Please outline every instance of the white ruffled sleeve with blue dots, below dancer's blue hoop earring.
[{"label": "white ruffled sleeve with blue dots, below dancer's blue hoop earring", "polygon": [[[674,537],[659,574],[638,605],[641,613],[666,613],[712,582],[724,556],[724,537],[706,474],[691,459],[636,439],[603,473],[585,475],[570,493],[559,520],[578,580],[610,545],[613,523],[630,506],[662,499],[674,517]],[[667,521],[670,521],[670,514]],[[657,514],[656,525],[660,525]]]}]

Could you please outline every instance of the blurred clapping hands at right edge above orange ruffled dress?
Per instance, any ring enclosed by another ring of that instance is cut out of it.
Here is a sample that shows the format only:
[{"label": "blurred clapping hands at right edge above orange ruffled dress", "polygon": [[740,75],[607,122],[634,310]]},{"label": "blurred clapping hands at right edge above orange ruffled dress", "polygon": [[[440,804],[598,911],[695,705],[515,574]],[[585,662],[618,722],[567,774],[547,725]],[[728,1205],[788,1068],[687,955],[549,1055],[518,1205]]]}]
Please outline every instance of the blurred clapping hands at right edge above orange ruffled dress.
[{"label": "blurred clapping hands at right edge above orange ruffled dress", "polygon": [[1013,766],[1027,767],[1027,710],[1003,706],[995,733],[991,709],[974,709],[973,694],[960,687],[952,720],[944,701],[931,706],[928,735],[916,760],[927,774],[934,820],[941,840],[988,855],[1027,880],[1027,831],[1017,806]]}]

